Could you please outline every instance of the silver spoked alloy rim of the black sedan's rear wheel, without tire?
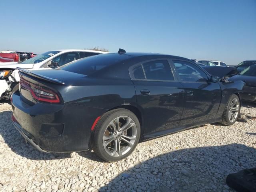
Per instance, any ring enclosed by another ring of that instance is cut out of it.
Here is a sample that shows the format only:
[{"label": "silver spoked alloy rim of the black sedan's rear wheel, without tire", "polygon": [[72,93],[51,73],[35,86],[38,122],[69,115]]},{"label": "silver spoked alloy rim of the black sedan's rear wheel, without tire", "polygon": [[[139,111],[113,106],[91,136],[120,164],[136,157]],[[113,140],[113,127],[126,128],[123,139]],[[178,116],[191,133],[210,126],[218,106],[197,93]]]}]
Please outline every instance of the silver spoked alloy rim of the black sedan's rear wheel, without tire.
[{"label": "silver spoked alloy rim of the black sedan's rear wheel, without tire", "polygon": [[128,116],[120,116],[110,122],[103,136],[104,150],[113,157],[126,154],[134,145],[137,127]]}]

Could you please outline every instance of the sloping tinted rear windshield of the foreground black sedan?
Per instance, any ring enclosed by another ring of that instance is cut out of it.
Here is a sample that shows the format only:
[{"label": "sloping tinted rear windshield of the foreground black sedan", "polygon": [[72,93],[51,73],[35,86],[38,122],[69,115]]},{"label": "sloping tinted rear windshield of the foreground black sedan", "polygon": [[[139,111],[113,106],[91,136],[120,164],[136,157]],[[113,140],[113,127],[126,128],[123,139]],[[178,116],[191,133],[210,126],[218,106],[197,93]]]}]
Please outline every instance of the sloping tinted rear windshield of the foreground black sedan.
[{"label": "sloping tinted rear windshield of the foreground black sedan", "polygon": [[132,56],[129,55],[119,55],[119,54],[100,54],[93,57],[86,57],[69,64],[63,65],[57,69],[90,75],[99,70],[104,70],[105,67],[112,64],[116,64]]}]

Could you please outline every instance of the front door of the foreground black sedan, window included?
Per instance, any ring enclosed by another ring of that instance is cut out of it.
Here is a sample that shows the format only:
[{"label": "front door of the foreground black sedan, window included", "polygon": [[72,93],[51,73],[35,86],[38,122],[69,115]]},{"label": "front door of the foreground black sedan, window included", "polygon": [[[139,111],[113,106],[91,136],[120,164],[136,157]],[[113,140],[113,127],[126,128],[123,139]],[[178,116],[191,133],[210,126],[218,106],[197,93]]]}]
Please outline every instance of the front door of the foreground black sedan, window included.
[{"label": "front door of the foreground black sedan, window included", "polygon": [[185,106],[180,127],[214,120],[220,105],[220,85],[210,82],[206,72],[192,62],[187,60],[172,60],[172,62],[185,90]]}]

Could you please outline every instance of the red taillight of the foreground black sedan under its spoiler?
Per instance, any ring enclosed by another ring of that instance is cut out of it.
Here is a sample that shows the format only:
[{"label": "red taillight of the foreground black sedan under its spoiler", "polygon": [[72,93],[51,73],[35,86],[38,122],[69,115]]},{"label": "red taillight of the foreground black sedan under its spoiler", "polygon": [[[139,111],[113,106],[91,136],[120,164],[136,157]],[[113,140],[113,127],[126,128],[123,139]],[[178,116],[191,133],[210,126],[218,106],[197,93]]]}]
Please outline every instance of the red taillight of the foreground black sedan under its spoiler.
[{"label": "red taillight of the foreground black sedan under its spoiler", "polygon": [[34,85],[24,79],[20,79],[19,84],[20,84],[20,88],[24,88],[30,91],[32,97],[35,100],[48,102],[48,103],[60,103],[60,98],[58,94],[53,90]]}]

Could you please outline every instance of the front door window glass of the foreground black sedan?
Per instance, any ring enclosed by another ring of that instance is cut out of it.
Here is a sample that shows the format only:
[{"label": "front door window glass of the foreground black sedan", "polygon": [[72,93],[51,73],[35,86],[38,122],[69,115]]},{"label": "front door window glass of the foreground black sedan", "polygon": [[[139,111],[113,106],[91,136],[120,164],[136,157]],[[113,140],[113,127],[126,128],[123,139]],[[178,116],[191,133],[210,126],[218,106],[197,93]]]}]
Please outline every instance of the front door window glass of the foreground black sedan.
[{"label": "front door window glass of the foreground black sedan", "polygon": [[206,82],[208,80],[206,73],[194,64],[179,60],[173,60],[173,62],[181,81]]}]

